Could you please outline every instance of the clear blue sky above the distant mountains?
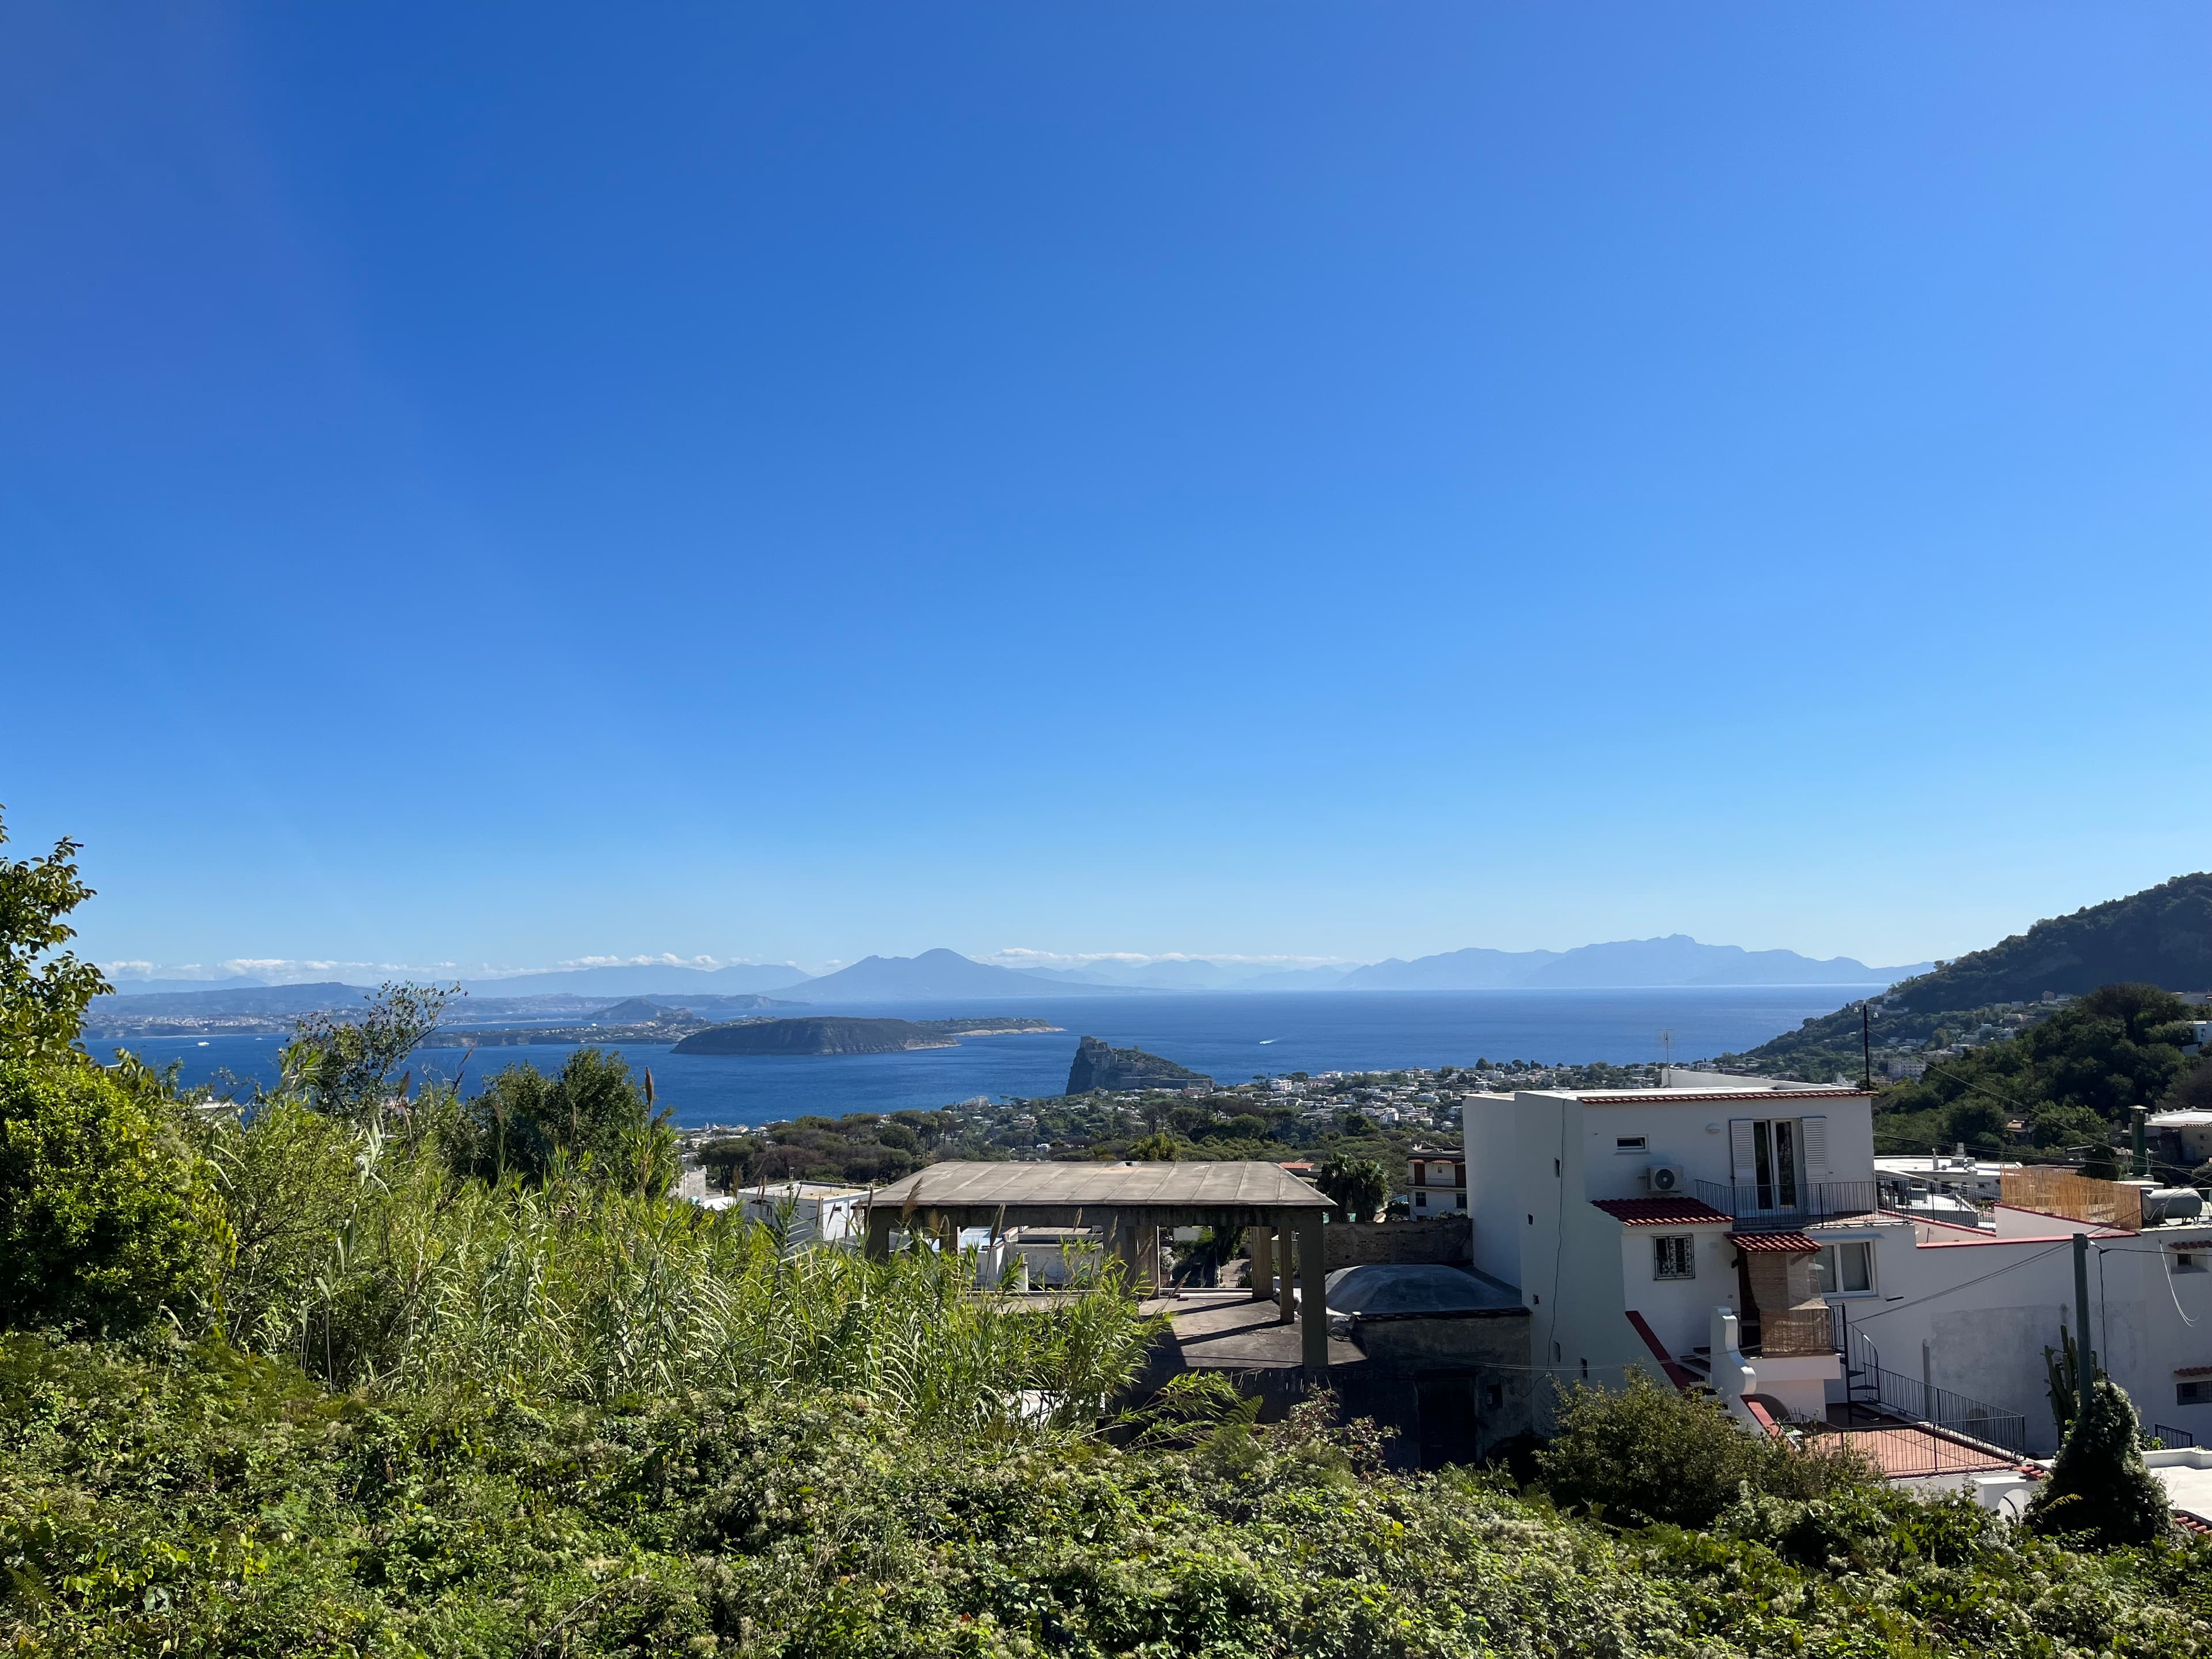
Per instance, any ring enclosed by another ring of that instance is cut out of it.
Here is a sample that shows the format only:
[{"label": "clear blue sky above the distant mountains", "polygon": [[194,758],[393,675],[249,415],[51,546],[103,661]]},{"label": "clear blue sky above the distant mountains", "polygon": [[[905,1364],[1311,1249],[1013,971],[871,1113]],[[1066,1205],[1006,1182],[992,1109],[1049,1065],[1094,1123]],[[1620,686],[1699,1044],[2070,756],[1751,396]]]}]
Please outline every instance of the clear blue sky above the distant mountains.
[{"label": "clear blue sky above the distant mountains", "polygon": [[2212,865],[2212,11],[0,20],[100,958],[1944,956]]}]

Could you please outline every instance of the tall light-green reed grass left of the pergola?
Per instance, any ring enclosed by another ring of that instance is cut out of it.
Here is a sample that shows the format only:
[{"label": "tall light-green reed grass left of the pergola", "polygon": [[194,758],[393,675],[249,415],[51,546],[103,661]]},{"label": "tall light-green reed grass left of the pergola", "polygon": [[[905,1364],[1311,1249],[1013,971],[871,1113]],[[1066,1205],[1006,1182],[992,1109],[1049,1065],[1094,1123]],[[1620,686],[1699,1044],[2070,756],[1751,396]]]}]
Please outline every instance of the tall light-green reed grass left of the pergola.
[{"label": "tall light-green reed grass left of the pergola", "polygon": [[234,1343],[369,1394],[622,1402],[695,1389],[874,1396],[931,1433],[1088,1420],[1150,1325],[1110,1290],[1048,1307],[973,1259],[867,1261],[774,1225],[555,1175],[456,1175],[422,1133],[272,1106],[215,1135]]}]

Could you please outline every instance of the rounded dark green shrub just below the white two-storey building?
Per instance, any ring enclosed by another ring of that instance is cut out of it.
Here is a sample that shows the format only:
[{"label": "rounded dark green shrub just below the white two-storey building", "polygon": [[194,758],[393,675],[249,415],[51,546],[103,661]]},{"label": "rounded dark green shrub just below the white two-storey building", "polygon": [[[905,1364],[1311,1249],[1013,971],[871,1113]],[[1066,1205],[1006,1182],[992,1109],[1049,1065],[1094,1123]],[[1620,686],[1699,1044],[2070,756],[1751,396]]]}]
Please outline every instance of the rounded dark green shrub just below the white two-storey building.
[{"label": "rounded dark green shrub just below the white two-storey building", "polygon": [[1621,1389],[1566,1389],[1535,1469],[1562,1504],[1677,1526],[1708,1526],[1745,1491],[1827,1498],[1874,1478],[1840,1440],[1750,1436],[1710,1394],[1679,1394],[1641,1371]]}]

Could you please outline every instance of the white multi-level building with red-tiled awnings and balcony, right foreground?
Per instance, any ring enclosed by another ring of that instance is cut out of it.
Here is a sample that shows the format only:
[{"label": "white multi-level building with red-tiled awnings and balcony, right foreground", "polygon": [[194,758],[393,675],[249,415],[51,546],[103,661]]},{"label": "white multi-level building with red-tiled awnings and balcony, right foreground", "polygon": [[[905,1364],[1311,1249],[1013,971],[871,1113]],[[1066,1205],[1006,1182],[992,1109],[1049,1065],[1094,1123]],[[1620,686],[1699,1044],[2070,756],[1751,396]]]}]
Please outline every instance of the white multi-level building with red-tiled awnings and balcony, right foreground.
[{"label": "white multi-level building with red-tiled awnings and balcony, right foreground", "polygon": [[1710,1082],[1467,1102],[1473,1261],[1522,1292],[1540,1369],[1686,1383],[1710,1367],[1725,1394],[1710,1334],[1728,1307],[1745,1387],[1776,1416],[1860,1400],[2042,1455],[2057,1447],[2044,1354],[2079,1334],[2086,1234],[2099,1365],[2168,1444],[2212,1442],[2197,1194],[2011,1166],[1993,1228],[1905,1217],[1882,1208],[1867,1095]]}]

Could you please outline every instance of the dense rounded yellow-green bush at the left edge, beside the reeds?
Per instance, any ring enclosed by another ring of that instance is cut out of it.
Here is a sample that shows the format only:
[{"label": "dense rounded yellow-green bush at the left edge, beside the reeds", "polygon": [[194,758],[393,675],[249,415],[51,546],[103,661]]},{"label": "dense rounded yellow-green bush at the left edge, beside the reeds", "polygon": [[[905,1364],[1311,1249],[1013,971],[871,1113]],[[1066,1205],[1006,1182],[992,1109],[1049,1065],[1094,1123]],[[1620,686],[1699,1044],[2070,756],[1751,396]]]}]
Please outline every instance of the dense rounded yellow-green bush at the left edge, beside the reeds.
[{"label": "dense rounded yellow-green bush at the left edge, beside the reeds", "polygon": [[157,1099],[84,1062],[0,1060],[0,1327],[197,1316],[232,1237]]}]

